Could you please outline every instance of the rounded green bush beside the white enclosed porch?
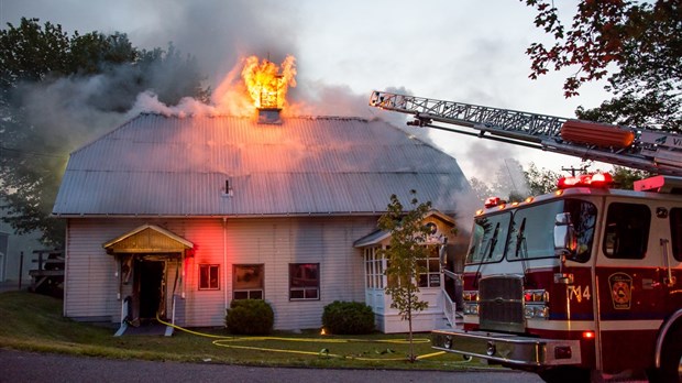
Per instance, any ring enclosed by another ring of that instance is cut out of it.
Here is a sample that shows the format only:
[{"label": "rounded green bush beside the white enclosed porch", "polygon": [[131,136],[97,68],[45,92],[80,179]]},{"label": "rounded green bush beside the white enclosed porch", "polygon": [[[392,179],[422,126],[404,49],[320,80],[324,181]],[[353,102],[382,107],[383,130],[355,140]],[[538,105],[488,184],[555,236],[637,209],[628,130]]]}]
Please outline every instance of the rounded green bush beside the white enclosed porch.
[{"label": "rounded green bush beside the white enclosed porch", "polygon": [[374,331],[374,311],[363,303],[334,300],[324,306],[322,326],[331,333],[370,333]]}]

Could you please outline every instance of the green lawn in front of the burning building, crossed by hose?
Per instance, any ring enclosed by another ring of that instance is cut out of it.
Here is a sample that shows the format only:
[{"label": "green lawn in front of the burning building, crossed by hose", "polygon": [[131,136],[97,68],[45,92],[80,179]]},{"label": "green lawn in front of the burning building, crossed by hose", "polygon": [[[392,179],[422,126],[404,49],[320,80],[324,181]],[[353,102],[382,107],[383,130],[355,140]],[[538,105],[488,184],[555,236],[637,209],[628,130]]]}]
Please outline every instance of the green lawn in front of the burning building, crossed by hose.
[{"label": "green lawn in front of the burning building, crossed by hose", "polygon": [[321,336],[276,332],[272,337],[232,337],[224,329],[176,331],[173,337],[113,337],[113,329],[62,317],[62,300],[28,292],[0,293],[0,348],[113,359],[211,362],[244,365],[352,369],[454,370],[485,366],[455,354],[433,354],[428,335],[415,336],[407,361],[406,335]]}]

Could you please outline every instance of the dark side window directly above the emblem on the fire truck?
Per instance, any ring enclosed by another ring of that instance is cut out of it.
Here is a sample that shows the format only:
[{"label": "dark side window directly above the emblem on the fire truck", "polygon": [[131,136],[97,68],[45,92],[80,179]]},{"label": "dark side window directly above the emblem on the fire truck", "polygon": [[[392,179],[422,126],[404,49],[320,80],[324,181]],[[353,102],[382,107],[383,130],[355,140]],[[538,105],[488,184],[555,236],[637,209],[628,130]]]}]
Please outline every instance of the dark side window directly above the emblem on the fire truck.
[{"label": "dark side window directly above the emblem on the fire truck", "polygon": [[651,210],[646,205],[614,203],[606,214],[602,250],[613,259],[641,260],[647,253]]}]

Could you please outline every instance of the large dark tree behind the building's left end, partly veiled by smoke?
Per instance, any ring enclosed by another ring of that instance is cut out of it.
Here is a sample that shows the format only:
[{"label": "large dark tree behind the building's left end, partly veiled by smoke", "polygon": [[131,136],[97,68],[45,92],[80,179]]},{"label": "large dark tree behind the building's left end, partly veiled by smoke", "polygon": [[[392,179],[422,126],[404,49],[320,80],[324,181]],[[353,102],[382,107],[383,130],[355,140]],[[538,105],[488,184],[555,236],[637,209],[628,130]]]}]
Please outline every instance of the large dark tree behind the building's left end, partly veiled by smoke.
[{"label": "large dark tree behind the building's left end, partly veiled by smoke", "polygon": [[[173,45],[140,51],[122,33],[69,36],[37,19],[0,30],[0,208],[16,233],[41,231],[59,247],[64,223],[51,217],[68,153],[122,122],[138,95],[206,100],[191,57]],[[98,123],[107,121],[108,123]]]}]

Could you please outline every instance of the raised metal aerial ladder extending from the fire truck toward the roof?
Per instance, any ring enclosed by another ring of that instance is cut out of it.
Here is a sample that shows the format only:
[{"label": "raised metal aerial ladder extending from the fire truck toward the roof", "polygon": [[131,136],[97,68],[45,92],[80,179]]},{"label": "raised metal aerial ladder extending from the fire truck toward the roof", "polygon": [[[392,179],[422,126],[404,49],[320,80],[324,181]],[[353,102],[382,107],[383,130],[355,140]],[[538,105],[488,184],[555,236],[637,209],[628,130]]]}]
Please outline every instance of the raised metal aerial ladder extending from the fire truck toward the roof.
[{"label": "raised metal aerial ladder extending from the fire truck toward the roof", "polygon": [[414,120],[408,121],[408,125],[469,134],[661,175],[682,176],[682,134],[675,132],[378,90],[372,92],[370,106],[413,114]]}]

